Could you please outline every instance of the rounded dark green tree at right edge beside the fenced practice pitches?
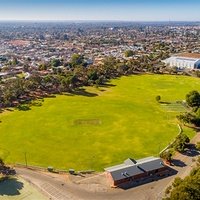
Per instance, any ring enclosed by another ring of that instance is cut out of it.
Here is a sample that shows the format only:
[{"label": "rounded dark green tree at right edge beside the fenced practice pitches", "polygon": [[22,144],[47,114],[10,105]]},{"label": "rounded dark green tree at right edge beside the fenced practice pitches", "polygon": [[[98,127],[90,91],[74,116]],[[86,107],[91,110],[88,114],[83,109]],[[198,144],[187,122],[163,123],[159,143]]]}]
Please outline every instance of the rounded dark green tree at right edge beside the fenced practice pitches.
[{"label": "rounded dark green tree at right edge beside the fenced practice pitches", "polygon": [[193,90],[186,95],[186,102],[190,107],[200,106],[200,94],[198,91]]}]

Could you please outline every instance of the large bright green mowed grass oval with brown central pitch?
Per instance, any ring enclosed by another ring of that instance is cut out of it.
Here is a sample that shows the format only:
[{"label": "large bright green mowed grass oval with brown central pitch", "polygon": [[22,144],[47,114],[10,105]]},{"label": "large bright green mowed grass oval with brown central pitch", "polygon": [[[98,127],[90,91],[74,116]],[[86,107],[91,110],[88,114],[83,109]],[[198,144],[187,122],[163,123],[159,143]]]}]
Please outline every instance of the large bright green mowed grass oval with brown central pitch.
[{"label": "large bright green mowed grass oval with brown central pitch", "polygon": [[155,97],[175,102],[194,89],[200,90],[198,78],[138,75],[79,95],[46,98],[29,111],[4,112],[0,156],[25,163],[26,152],[30,165],[75,170],[103,170],[128,157],[156,156],[178,134],[181,109],[163,108]]}]

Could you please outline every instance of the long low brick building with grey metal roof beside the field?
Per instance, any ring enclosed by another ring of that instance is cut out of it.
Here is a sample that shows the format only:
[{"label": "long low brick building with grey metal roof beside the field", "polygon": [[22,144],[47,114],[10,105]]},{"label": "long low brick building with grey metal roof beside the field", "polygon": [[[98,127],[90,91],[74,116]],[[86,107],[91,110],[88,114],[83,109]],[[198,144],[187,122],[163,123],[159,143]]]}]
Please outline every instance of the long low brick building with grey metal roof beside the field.
[{"label": "long low brick building with grey metal roof beside the field", "polygon": [[152,175],[161,175],[168,168],[160,158],[147,157],[140,160],[128,158],[124,163],[105,168],[112,186],[138,181]]}]

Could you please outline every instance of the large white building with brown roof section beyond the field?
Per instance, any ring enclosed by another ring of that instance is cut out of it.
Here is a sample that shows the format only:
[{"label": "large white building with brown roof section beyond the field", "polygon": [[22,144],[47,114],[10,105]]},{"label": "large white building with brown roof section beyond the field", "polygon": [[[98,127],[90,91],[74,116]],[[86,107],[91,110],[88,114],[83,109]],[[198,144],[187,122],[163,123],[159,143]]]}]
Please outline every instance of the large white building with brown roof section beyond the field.
[{"label": "large white building with brown roof section beyond the field", "polygon": [[178,69],[200,69],[200,54],[183,53],[171,56],[163,62],[170,67],[177,67]]}]

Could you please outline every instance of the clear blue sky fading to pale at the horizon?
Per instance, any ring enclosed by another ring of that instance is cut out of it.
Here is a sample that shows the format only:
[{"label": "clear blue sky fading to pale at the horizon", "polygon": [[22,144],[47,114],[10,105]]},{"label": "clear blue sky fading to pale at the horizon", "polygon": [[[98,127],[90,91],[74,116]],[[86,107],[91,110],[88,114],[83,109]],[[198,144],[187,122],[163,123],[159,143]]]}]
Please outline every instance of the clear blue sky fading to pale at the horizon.
[{"label": "clear blue sky fading to pale at the horizon", "polygon": [[200,0],[0,0],[0,20],[200,21]]}]

